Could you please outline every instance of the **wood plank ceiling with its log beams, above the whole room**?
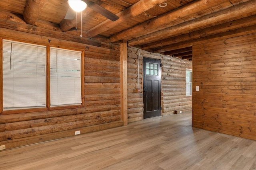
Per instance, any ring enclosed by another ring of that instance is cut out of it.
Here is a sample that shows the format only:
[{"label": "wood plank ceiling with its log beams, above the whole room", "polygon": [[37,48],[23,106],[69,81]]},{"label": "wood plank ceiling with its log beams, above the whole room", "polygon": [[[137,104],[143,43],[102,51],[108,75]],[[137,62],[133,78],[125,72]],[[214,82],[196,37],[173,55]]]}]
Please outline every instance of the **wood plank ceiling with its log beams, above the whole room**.
[{"label": "wood plank ceiling with its log beams, above the whole room", "polygon": [[6,20],[24,21],[72,35],[80,35],[82,28],[81,39],[112,43],[127,40],[128,46],[188,60],[192,59],[192,43],[199,38],[234,29],[256,28],[256,0],[91,1],[120,18],[111,21],[86,8],[82,12],[81,27],[80,13],[77,20],[64,19],[69,8],[67,0],[1,0],[0,24],[14,29]]}]

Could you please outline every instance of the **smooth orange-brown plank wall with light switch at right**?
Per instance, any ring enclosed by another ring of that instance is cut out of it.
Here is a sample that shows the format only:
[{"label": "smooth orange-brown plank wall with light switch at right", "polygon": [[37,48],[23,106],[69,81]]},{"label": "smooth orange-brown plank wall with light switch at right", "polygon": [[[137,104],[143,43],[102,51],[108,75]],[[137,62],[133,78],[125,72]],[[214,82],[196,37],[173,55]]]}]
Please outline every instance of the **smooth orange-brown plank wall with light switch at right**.
[{"label": "smooth orange-brown plank wall with light switch at right", "polygon": [[193,46],[192,103],[193,127],[256,140],[255,33]]}]

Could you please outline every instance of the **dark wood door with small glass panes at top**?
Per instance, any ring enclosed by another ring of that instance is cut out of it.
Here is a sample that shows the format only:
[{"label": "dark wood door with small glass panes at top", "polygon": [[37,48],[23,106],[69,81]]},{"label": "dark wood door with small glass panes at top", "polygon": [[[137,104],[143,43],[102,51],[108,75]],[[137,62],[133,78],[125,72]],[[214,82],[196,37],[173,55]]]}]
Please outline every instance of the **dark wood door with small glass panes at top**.
[{"label": "dark wood door with small glass panes at top", "polygon": [[161,115],[161,61],[143,58],[144,118]]}]

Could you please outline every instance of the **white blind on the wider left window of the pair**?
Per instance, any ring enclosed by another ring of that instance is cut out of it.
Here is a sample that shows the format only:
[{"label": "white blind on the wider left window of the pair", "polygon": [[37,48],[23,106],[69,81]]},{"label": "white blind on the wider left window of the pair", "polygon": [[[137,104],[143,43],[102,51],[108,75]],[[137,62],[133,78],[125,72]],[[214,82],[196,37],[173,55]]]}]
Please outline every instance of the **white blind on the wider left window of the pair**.
[{"label": "white blind on the wider left window of the pair", "polygon": [[3,41],[3,107],[46,107],[46,46]]}]

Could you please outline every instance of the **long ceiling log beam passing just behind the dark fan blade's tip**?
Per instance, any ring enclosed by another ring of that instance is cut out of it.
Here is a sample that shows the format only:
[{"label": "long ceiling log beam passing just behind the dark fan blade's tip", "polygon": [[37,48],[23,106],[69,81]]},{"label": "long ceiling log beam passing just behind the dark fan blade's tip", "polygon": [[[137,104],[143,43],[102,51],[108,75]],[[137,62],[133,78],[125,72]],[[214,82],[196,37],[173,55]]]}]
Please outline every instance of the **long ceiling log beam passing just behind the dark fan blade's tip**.
[{"label": "long ceiling log beam passing just behind the dark fan blade's tip", "polygon": [[123,23],[124,21],[130,20],[131,18],[138,16],[139,14],[153,8],[156,5],[162,4],[167,0],[140,0],[136,4],[130,6],[129,8],[123,10],[122,12],[116,14],[119,19],[116,21],[106,20],[99,25],[96,25],[92,29],[88,30],[88,36],[94,37],[102,32],[108,31],[112,27]]}]

